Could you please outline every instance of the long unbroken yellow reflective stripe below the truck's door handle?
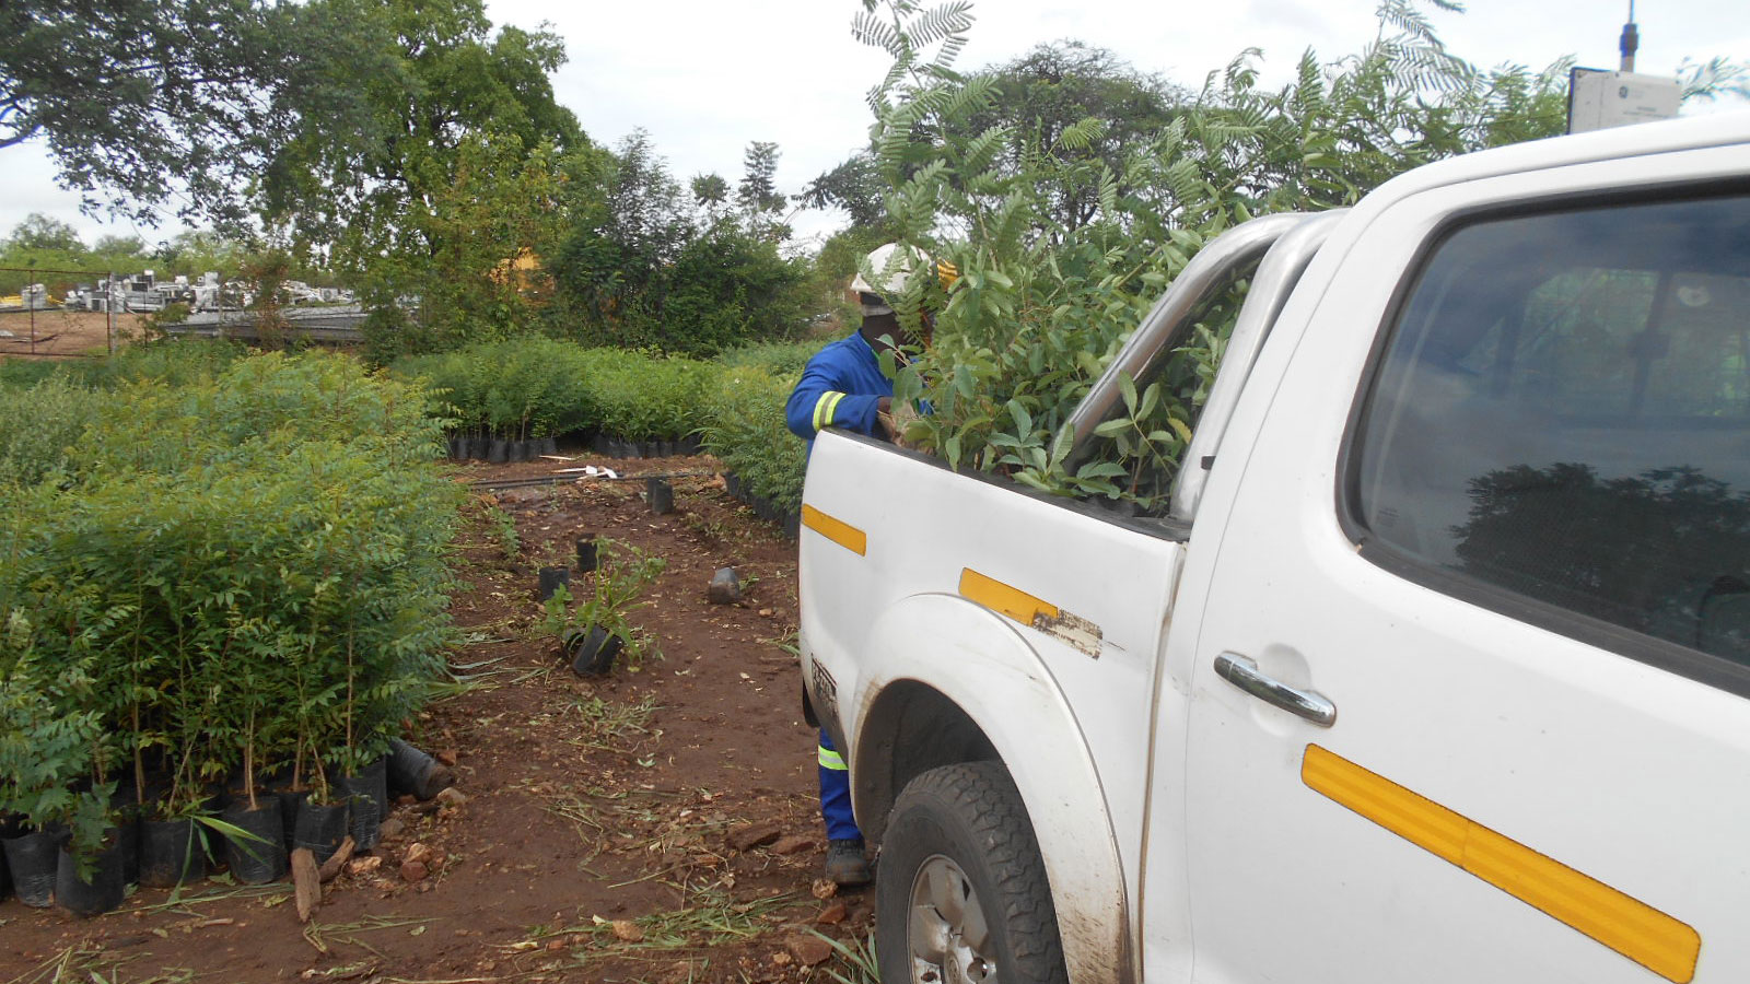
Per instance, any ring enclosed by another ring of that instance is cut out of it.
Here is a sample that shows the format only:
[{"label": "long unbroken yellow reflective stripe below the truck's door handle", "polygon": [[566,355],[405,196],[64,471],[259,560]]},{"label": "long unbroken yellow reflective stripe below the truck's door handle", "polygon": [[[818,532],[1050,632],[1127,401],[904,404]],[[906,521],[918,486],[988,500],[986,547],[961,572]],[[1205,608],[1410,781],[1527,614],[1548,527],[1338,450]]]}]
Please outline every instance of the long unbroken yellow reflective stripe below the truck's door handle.
[{"label": "long unbroken yellow reflective stripe below the truck's door handle", "polygon": [[1300,781],[1668,980],[1696,977],[1701,933],[1638,898],[1316,744],[1300,760]]}]

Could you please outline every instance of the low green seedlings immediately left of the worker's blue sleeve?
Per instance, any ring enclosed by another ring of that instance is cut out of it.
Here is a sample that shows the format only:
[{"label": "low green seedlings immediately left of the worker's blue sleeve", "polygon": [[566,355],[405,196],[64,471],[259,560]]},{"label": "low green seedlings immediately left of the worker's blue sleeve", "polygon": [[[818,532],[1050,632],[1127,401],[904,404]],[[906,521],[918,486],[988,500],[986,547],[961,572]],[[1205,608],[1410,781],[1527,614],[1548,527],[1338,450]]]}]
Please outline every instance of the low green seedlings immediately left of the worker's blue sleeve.
[{"label": "low green seedlings immediately left of the worker's blue sleeve", "polygon": [[705,450],[747,488],[786,513],[802,508],[808,448],[784,425],[784,403],[796,376],[760,366],[733,366],[718,376],[705,404]]}]

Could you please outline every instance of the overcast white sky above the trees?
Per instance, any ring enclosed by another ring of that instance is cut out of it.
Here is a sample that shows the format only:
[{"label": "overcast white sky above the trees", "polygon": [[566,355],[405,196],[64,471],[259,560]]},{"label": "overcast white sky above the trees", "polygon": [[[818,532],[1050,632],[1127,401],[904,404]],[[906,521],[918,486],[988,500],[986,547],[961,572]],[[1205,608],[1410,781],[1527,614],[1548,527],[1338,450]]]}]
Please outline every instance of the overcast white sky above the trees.
[{"label": "overcast white sky above the trees", "polygon": [[[565,39],[570,61],[555,82],[558,100],[593,140],[612,144],[642,126],[682,182],[718,172],[732,184],[747,144],[775,140],[779,187],[789,193],[866,142],[863,96],[887,58],[850,39],[859,9],[858,0],[486,2],[497,25],[550,21]],[[1241,49],[1260,47],[1267,81],[1281,82],[1307,47],[1328,61],[1363,46],[1374,9],[1374,0],[978,0],[959,65],[1076,39],[1195,88]],[[1432,16],[1447,47],[1482,67],[1542,68],[1573,54],[1580,65],[1615,68],[1626,12],[1626,0],[1472,0],[1465,14]],[[1671,74],[1684,58],[1750,58],[1745,0],[1640,0],[1634,16],[1638,72]],[[40,147],[0,151],[0,235],[30,212],[74,222],[88,242],[136,231],[79,215],[77,196],[54,187]],[[830,222],[802,217],[798,231]],[[166,235],[138,233],[149,242]]]}]

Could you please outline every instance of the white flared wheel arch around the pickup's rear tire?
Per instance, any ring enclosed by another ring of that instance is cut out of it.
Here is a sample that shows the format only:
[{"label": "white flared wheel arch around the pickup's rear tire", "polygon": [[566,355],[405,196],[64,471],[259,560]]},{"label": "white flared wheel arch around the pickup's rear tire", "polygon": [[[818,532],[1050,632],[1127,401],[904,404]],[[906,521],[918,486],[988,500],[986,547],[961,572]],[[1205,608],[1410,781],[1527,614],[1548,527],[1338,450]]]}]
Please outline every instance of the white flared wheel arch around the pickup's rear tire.
[{"label": "white flared wheel arch around the pickup's rear tire", "polygon": [[[940,765],[994,760],[1027,809],[1071,980],[1132,980],[1130,914],[1094,758],[1046,662],[1003,616],[914,595],[866,643],[850,749],[858,823],[878,840],[894,798]],[[928,681],[928,683],[926,683]]]}]

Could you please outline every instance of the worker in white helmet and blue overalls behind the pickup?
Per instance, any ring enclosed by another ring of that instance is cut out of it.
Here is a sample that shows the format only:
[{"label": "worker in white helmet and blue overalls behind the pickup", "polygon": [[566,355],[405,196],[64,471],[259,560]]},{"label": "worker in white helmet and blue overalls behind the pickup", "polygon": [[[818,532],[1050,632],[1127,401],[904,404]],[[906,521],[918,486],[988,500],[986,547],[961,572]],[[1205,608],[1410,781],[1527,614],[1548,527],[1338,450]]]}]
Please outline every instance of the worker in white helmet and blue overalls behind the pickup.
[{"label": "worker in white helmet and blue overalls behind the pickup", "polygon": [[[861,326],[808,359],[784,408],[786,424],[808,441],[810,452],[814,436],[822,427],[844,427],[873,438],[896,436],[892,380],[882,371],[880,355],[892,352],[896,364],[905,364],[906,348],[929,343],[931,317],[922,317],[922,338],[914,338],[900,324],[891,303],[905,292],[914,268],[926,263],[915,249],[887,243],[868,256],[864,270],[850,282],[858,294]],[[943,287],[957,277],[947,263],[936,264],[936,271]],[[872,875],[863,832],[850,811],[850,772],[826,728],[821,728],[816,758],[821,772],[821,818],[826,821],[826,877],[844,886],[866,884]]]}]

